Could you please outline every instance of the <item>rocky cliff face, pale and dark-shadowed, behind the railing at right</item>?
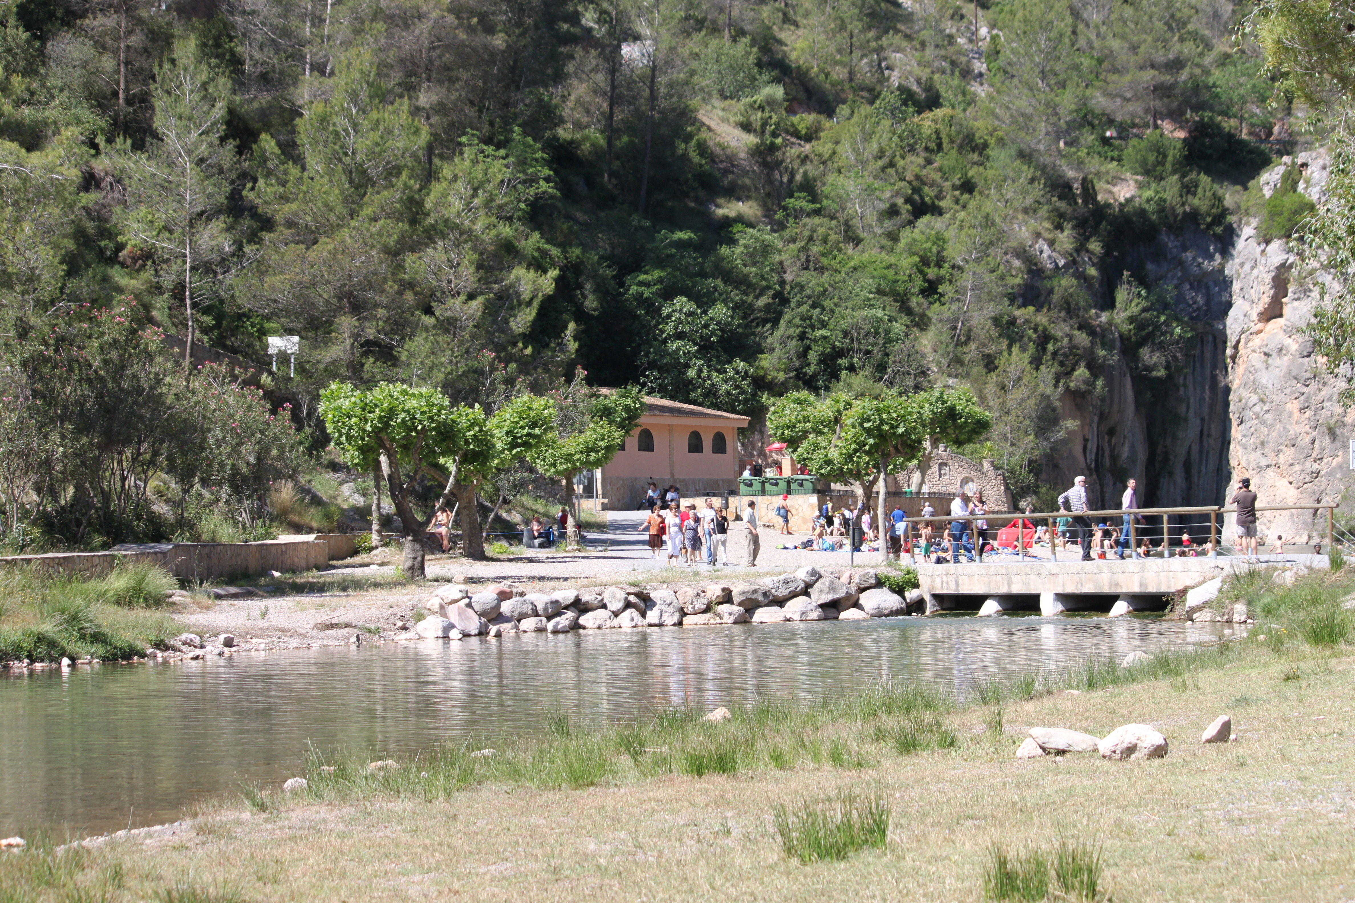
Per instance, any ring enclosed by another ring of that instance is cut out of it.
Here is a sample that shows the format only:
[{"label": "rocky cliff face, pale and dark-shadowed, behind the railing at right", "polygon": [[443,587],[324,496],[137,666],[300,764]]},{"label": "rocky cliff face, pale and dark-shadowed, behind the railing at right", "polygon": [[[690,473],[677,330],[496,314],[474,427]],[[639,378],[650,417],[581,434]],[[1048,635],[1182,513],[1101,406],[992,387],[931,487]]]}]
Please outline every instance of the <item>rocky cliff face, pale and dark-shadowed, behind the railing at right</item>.
[{"label": "rocky cliff face, pale and dark-shadowed, behind the railing at right", "polygon": [[[1321,202],[1327,157],[1301,154],[1301,190]],[[1283,167],[1263,176],[1267,195]],[[1099,504],[1119,505],[1125,481],[1140,481],[1146,506],[1218,505],[1236,478],[1251,477],[1263,505],[1336,502],[1351,485],[1348,443],[1355,413],[1341,410],[1336,382],[1321,374],[1302,329],[1321,273],[1304,273],[1283,241],[1260,242],[1252,223],[1228,242],[1202,232],[1161,236],[1130,261],[1149,284],[1176,290],[1176,313],[1194,328],[1192,351],[1164,395],[1149,399],[1115,355],[1099,398],[1064,398],[1077,421],[1046,479],[1085,474]],[[1286,540],[1325,536],[1325,516],[1263,517]]]}]

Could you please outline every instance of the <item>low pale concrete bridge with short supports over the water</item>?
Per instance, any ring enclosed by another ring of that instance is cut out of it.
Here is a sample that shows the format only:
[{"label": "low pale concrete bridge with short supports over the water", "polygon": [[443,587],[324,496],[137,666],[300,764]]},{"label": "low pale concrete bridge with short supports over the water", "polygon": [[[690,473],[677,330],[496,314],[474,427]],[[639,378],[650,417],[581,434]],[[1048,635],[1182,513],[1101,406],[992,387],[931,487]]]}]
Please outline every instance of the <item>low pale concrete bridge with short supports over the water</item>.
[{"label": "low pale concrete bridge with short supports over the water", "polygon": [[1304,560],[1327,566],[1325,555],[1287,556],[1260,565],[1240,558],[1141,558],[1092,562],[1030,560],[977,565],[917,565],[927,613],[973,611],[980,615],[1038,611],[1106,612],[1111,617],[1164,611],[1176,592],[1251,567],[1278,567]]}]

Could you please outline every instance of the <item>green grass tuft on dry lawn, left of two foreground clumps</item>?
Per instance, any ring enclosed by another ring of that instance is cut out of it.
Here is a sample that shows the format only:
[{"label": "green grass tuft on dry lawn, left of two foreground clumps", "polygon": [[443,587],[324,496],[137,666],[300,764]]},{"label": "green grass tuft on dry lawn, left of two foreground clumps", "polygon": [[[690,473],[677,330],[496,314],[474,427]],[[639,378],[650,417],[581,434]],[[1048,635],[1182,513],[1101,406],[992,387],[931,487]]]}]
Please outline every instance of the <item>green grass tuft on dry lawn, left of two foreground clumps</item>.
[{"label": "green grass tuft on dry lawn, left of two foreground clumps", "polygon": [[889,801],[879,793],[841,791],[821,800],[772,806],[772,826],[787,857],[802,864],[844,860],[858,850],[883,849]]}]

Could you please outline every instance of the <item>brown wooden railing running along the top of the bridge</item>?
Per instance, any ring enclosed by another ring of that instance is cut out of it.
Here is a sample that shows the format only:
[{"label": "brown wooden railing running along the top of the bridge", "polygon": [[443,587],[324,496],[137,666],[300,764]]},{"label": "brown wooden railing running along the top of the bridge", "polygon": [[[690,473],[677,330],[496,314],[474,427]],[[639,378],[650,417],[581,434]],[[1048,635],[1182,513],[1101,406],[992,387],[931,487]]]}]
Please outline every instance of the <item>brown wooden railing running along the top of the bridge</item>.
[{"label": "brown wooden railing running along the top of the bridge", "polygon": [[[1283,512],[1283,510],[1308,510],[1308,512],[1314,512],[1314,514],[1318,514],[1318,516],[1320,516],[1321,512],[1325,510],[1327,512],[1327,548],[1332,550],[1332,548],[1337,547],[1337,544],[1344,546],[1344,547],[1352,547],[1352,548],[1355,548],[1355,536],[1351,536],[1350,533],[1347,533],[1343,529],[1339,531],[1337,527],[1336,527],[1336,506],[1335,505],[1257,505],[1256,506],[1256,513],[1257,514],[1264,513],[1264,512]],[[1138,537],[1140,536],[1150,536],[1150,537],[1154,537],[1154,539],[1157,536],[1161,536],[1161,540],[1163,540],[1161,544],[1157,546],[1157,547],[1154,547],[1152,551],[1153,552],[1161,551],[1164,555],[1169,555],[1169,552],[1172,550],[1172,546],[1171,546],[1171,533],[1172,533],[1171,519],[1172,517],[1182,517],[1182,516],[1198,519],[1198,523],[1195,524],[1195,527],[1199,528],[1201,531],[1203,531],[1203,519],[1207,516],[1209,517],[1209,540],[1207,540],[1207,543],[1194,543],[1188,548],[1191,548],[1191,550],[1194,550],[1196,552],[1201,551],[1201,550],[1203,550],[1209,555],[1209,558],[1217,558],[1218,556],[1218,550],[1224,544],[1221,542],[1221,536],[1220,536],[1220,528],[1222,527],[1222,514],[1234,514],[1234,513],[1237,513],[1236,508],[1222,508],[1222,506],[1133,508],[1133,509],[1088,510],[1088,512],[1042,512],[1042,513],[1038,513],[1038,514],[1035,514],[1035,513],[1031,513],[1031,514],[1015,514],[1015,513],[1011,513],[1011,512],[1003,512],[1003,513],[992,513],[991,512],[988,514],[966,514],[963,517],[953,516],[950,512],[940,512],[940,510],[938,510],[931,517],[905,517],[900,523],[902,523],[905,525],[905,528],[904,528],[904,537],[902,537],[904,539],[904,547],[908,550],[908,554],[912,556],[913,563],[916,563],[917,562],[917,543],[913,542],[915,540],[915,536],[913,536],[913,525],[915,524],[940,524],[940,528],[936,531],[936,535],[939,537],[944,537],[944,536],[948,535],[951,537],[951,540],[954,542],[954,533],[951,532],[950,525],[953,523],[955,523],[955,521],[966,521],[969,524],[969,529],[966,529],[965,532],[967,533],[967,536],[970,537],[970,543],[973,544],[974,532],[976,532],[974,528],[973,528],[974,521],[988,521],[988,527],[984,528],[984,532],[985,533],[993,533],[995,536],[996,536],[996,533],[997,533],[999,529],[1003,529],[1003,528],[1007,527],[1007,524],[1009,524],[1012,521],[1016,521],[1018,523],[1018,543],[1016,543],[1016,548],[1018,548],[1018,554],[1022,558],[1024,558],[1026,554],[1027,554],[1026,552],[1026,535],[1027,533],[1026,533],[1026,525],[1024,525],[1024,523],[1026,521],[1033,521],[1035,524],[1039,524],[1041,521],[1045,521],[1046,523],[1046,528],[1047,528],[1046,536],[1047,536],[1047,540],[1049,540],[1050,559],[1057,562],[1058,560],[1058,529],[1057,529],[1057,523],[1058,523],[1060,519],[1070,517],[1070,519],[1075,519],[1075,521],[1079,520],[1079,519],[1085,519],[1087,523],[1092,524],[1091,528],[1084,528],[1084,527],[1080,527],[1079,524],[1075,523],[1072,525],[1072,529],[1076,529],[1079,532],[1081,532],[1083,529],[1089,529],[1088,539],[1091,539],[1095,535],[1095,525],[1098,523],[1106,524],[1106,529],[1107,531],[1108,529],[1114,529],[1114,528],[1123,528],[1125,516],[1127,514],[1127,516],[1130,516],[1129,517],[1129,550],[1130,550],[1131,554],[1134,554],[1134,555],[1138,554]],[[1159,517],[1161,519],[1161,528],[1157,528],[1156,524],[1153,524],[1153,521],[1149,520],[1149,519],[1156,520]],[[1138,521],[1144,521],[1144,523],[1140,524]],[[999,525],[993,527],[995,523],[999,523]],[[1187,531],[1188,527],[1190,527],[1190,524],[1180,524],[1179,525],[1177,536],[1182,536],[1182,533],[1184,531]],[[1135,529],[1135,528],[1138,528],[1138,529]],[[1203,537],[1203,535],[1202,535],[1202,537]],[[993,546],[996,546],[996,543],[993,543]],[[888,548],[888,546],[885,546],[885,547]],[[1187,548],[1187,546],[1183,544],[1183,546],[1177,546],[1176,548]],[[966,555],[969,552],[966,552]],[[982,543],[978,543],[977,546],[974,546],[974,554],[978,556],[978,560],[984,559]],[[951,560],[954,560],[955,556],[957,556],[957,551],[953,550],[953,552],[951,552]]]}]

